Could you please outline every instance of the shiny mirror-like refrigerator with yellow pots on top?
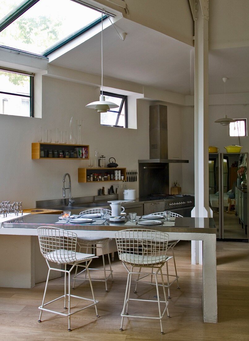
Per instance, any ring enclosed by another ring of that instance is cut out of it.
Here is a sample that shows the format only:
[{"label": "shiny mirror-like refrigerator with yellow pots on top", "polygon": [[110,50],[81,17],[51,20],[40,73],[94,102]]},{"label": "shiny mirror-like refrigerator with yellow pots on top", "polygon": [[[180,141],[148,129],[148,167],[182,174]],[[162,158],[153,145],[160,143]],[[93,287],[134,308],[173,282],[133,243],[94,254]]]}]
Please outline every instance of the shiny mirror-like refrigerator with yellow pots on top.
[{"label": "shiny mirror-like refrigerator with yellow pots on top", "polygon": [[209,206],[217,239],[248,241],[247,188],[241,188],[237,170],[248,168],[248,153],[209,154]]}]

